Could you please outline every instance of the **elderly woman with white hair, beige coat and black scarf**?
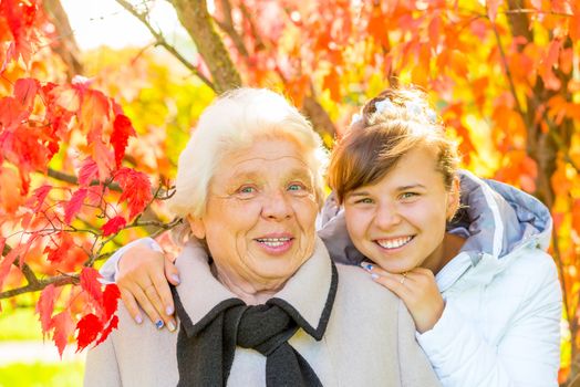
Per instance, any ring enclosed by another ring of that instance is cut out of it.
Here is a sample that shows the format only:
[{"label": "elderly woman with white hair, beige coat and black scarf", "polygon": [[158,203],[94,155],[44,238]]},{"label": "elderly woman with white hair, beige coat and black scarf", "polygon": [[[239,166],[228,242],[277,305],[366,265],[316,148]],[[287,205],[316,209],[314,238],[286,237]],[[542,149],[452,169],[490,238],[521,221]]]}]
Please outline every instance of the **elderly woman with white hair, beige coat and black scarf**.
[{"label": "elderly woman with white hair, beige coat and black scarf", "polygon": [[179,333],[121,308],[85,385],[438,386],[403,303],[317,239],[324,158],[276,93],[241,88],[209,106],[170,203],[205,244],[177,259]]}]

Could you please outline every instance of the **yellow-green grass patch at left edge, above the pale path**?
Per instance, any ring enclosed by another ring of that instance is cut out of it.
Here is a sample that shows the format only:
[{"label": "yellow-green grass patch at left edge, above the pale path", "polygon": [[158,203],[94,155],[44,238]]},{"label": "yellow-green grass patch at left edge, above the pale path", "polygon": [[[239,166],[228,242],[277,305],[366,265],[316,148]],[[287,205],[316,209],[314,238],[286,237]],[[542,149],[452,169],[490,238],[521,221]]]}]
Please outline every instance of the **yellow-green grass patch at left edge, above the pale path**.
[{"label": "yellow-green grass patch at left edge, above the pale path", "polygon": [[0,312],[0,342],[24,339],[42,341],[39,316],[34,314],[34,308],[4,308]]}]

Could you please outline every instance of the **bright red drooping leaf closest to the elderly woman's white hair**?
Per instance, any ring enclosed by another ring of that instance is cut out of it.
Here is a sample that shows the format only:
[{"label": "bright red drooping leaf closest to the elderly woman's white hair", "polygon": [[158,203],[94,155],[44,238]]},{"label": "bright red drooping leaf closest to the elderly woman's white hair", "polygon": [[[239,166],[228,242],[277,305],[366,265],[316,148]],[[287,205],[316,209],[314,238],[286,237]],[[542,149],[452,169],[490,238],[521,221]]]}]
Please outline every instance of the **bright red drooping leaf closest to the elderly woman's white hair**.
[{"label": "bright red drooping leaf closest to the elderly woman's white hair", "polygon": [[131,168],[121,168],[115,174],[115,181],[118,182],[123,190],[118,201],[127,200],[127,207],[131,212],[130,219],[143,211],[153,199],[149,178],[143,172]]}]

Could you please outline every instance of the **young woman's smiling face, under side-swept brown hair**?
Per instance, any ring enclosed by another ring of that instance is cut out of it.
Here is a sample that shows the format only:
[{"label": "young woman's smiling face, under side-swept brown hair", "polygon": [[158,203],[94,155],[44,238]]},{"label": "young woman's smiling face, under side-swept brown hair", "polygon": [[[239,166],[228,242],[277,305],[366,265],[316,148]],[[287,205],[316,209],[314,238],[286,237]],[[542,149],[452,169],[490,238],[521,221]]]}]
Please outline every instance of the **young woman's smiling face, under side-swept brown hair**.
[{"label": "young woman's smiling face, under side-swept brown hair", "polygon": [[445,224],[457,203],[458,191],[446,189],[434,153],[418,147],[376,184],[348,192],[344,215],[356,249],[383,269],[436,271],[445,260]]}]

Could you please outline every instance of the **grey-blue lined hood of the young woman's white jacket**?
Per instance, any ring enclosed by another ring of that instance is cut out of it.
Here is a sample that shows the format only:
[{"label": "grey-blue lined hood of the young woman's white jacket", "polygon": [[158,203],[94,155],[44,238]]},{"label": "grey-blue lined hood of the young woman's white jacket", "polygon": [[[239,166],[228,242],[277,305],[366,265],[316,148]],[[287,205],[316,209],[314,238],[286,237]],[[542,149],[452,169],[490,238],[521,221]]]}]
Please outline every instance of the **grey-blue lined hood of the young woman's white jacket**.
[{"label": "grey-blue lined hood of the young woman's white jacket", "polygon": [[[466,238],[462,248],[475,265],[483,255],[500,260],[522,245],[546,250],[550,243],[551,216],[538,199],[506,184],[480,179],[459,170],[460,209],[447,231]],[[330,195],[319,217],[319,236],[340,263],[359,264],[365,258],[354,248],[344,213]]]}]

